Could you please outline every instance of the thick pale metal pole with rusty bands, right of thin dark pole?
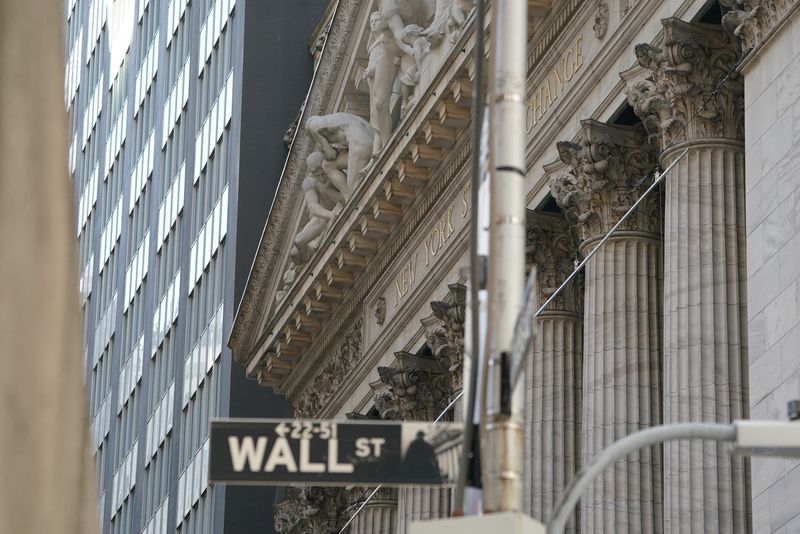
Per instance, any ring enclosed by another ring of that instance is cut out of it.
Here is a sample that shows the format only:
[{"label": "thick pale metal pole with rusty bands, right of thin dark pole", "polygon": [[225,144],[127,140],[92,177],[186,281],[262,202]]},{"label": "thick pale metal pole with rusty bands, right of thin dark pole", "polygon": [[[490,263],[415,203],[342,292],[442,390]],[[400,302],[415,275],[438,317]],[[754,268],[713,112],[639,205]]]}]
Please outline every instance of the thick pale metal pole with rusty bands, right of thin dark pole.
[{"label": "thick pale metal pole with rusty bands, right of thin dark pole", "polygon": [[522,389],[510,357],[525,283],[525,78],[527,0],[493,5],[490,82],[491,208],[485,412],[481,432],[485,512],[522,510]]}]

